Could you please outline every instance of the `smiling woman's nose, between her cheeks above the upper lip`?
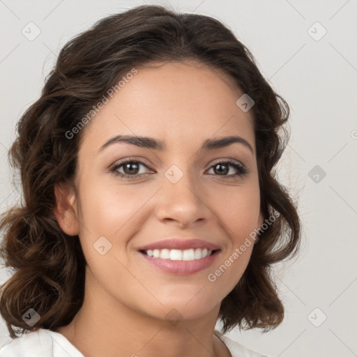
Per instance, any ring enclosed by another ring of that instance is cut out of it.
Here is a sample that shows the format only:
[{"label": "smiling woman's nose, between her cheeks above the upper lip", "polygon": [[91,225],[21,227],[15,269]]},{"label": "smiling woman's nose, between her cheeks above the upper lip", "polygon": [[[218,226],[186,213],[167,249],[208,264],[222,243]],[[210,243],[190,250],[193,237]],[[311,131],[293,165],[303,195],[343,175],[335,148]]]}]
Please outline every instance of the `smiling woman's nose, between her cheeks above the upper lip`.
[{"label": "smiling woman's nose, between her cheeks above the upper lip", "polygon": [[163,176],[155,214],[161,222],[172,222],[181,228],[207,221],[213,215],[204,186],[187,172],[177,182],[169,175]]}]

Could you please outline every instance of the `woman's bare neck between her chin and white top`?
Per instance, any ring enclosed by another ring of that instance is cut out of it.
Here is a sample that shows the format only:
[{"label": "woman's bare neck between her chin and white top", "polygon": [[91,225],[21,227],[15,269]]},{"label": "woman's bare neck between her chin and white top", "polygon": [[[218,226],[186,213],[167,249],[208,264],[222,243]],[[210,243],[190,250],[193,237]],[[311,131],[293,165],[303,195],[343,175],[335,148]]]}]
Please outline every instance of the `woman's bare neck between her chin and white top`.
[{"label": "woman's bare neck between her chin and white top", "polygon": [[86,357],[231,356],[213,334],[219,307],[195,320],[159,319],[123,305],[97,286],[90,294],[86,290],[73,321],[56,332]]}]

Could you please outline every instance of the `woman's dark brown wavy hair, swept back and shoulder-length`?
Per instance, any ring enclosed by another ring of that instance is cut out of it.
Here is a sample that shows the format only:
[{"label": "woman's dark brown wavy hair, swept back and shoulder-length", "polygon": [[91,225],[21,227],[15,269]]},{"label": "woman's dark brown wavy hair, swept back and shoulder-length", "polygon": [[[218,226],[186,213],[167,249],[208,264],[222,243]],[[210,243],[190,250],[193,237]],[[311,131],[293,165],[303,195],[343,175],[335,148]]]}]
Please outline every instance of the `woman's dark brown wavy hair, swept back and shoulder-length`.
[{"label": "woman's dark brown wavy hair, swept back and shoulder-length", "polygon": [[[86,260],[78,236],[65,234],[54,216],[54,185],[72,183],[77,164],[78,125],[130,68],[148,63],[197,60],[227,73],[255,101],[254,116],[261,213],[280,216],[259,237],[243,277],[223,299],[218,318],[223,332],[235,326],[278,326],[284,307],[271,264],[294,257],[301,240],[296,202],[275,177],[275,164],[289,133],[289,105],[257,68],[254,57],[234,33],[213,17],[176,13],[163,6],[138,6],[109,15],[70,40],[59,52],[40,98],[17,123],[8,156],[20,171],[23,196],[1,216],[0,247],[13,275],[0,289],[0,313],[10,337],[16,333],[66,326],[84,299]],[[84,128],[85,129],[85,128]],[[40,315],[34,325],[22,316]]]}]

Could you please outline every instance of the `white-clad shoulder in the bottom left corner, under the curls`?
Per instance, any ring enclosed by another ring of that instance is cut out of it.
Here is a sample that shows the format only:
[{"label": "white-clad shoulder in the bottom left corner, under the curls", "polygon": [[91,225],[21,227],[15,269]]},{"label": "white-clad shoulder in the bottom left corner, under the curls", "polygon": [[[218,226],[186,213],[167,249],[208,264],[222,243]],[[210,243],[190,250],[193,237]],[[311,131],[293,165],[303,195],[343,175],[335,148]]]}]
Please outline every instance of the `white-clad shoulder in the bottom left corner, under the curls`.
[{"label": "white-clad shoulder in the bottom left corner, under the curls", "polygon": [[10,339],[0,347],[1,357],[84,357],[60,333],[40,328]]}]

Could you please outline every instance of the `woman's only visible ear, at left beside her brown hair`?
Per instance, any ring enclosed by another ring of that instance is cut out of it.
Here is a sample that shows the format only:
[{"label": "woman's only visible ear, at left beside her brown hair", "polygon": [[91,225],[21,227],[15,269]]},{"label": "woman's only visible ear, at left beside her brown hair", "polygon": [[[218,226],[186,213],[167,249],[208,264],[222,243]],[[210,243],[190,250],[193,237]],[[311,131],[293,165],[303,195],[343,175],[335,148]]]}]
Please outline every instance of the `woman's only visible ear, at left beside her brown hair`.
[{"label": "woman's only visible ear, at left beside her brown hair", "polygon": [[57,222],[59,222],[59,226],[68,236],[79,234],[75,190],[69,184],[56,183],[54,195],[56,204],[54,205],[53,213]]}]

